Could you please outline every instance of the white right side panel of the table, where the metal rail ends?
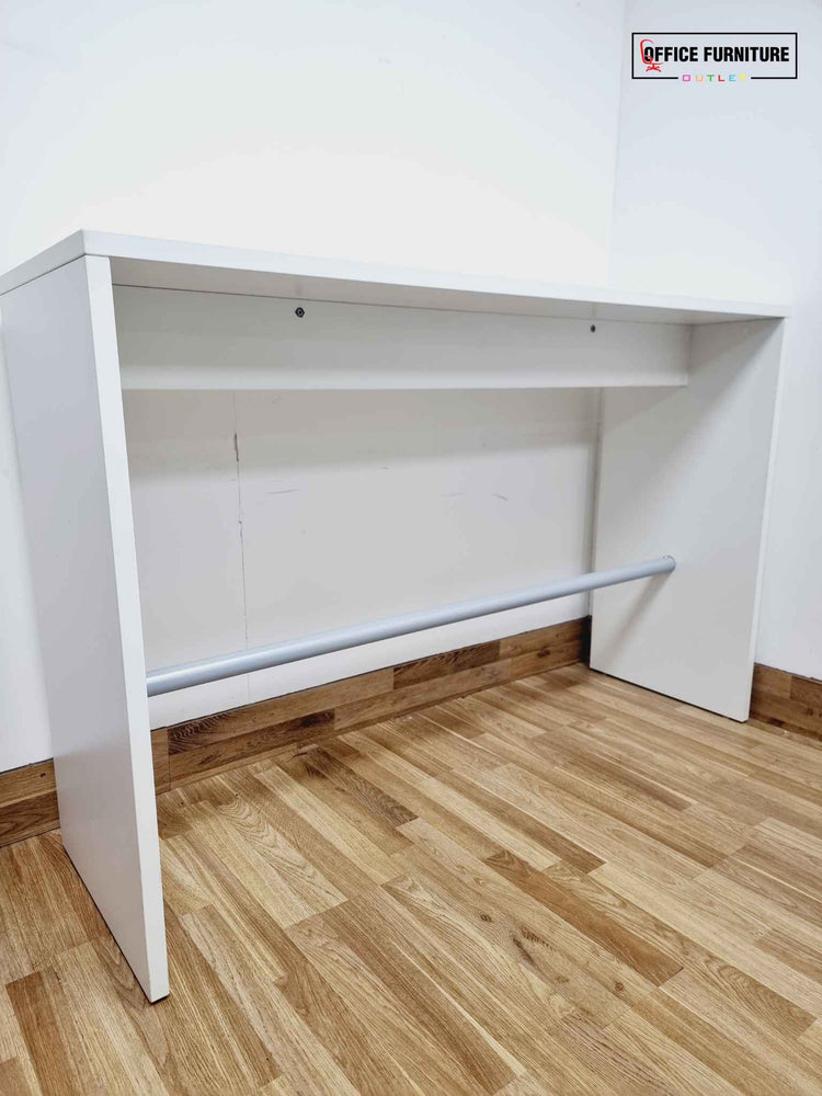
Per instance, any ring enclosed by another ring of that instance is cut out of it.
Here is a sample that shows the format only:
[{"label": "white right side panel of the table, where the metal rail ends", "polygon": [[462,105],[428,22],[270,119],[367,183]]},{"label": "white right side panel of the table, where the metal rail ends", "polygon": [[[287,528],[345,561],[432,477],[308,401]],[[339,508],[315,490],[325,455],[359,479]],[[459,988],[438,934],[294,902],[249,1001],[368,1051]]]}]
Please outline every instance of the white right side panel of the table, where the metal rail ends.
[{"label": "white right side panel of the table, where the metal rail ends", "polygon": [[603,401],[596,567],[673,574],[593,595],[591,665],[747,718],[781,322],[698,327],[688,385]]}]

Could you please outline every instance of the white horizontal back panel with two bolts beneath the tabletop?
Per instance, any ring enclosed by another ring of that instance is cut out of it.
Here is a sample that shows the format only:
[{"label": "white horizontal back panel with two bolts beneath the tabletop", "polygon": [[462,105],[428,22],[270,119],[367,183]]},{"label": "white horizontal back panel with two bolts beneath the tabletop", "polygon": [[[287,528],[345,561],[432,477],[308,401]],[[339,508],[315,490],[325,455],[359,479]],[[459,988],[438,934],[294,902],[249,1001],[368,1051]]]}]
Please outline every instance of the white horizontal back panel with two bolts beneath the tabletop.
[{"label": "white horizontal back panel with two bolts beneath the tabletop", "polygon": [[126,389],[515,389],[687,383],[692,327],[114,287]]}]

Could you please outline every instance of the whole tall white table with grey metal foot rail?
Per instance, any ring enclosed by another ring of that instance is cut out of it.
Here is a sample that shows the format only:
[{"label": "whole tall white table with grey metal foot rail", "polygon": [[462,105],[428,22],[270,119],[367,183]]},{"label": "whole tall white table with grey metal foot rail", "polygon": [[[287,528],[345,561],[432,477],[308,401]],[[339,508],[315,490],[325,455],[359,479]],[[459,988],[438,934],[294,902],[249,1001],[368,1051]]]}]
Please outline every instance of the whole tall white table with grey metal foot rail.
[{"label": "whole tall white table with grey metal foot rail", "polygon": [[[0,293],[62,840],[149,1000],[148,694],[592,590],[594,669],[746,718],[785,308],[99,232]],[[602,389],[595,570],[147,675],[129,388]]]}]

